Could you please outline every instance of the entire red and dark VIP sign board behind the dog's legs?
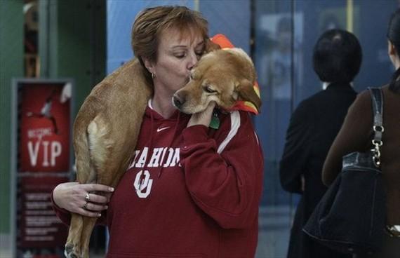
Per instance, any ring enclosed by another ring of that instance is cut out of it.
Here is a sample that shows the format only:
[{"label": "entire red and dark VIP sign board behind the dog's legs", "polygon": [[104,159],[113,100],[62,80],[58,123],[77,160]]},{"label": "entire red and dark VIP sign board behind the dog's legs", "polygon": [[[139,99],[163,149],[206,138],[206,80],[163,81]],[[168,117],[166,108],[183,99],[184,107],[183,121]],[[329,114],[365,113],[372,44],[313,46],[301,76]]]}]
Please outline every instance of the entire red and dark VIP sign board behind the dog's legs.
[{"label": "entire red and dark VIP sign board behind the dog's legs", "polygon": [[16,84],[16,256],[62,257],[67,226],[55,216],[51,191],[69,181],[72,83],[21,80]]}]

